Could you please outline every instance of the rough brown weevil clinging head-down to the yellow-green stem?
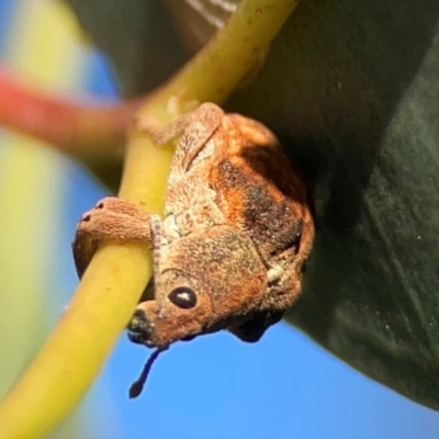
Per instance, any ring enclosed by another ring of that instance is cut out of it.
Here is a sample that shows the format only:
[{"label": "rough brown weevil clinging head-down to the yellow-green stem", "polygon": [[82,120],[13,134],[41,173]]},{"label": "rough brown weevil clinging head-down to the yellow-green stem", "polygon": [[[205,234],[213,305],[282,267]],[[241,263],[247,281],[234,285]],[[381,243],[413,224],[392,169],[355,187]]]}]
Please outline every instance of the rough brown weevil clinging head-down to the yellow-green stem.
[{"label": "rough brown weevil clinging head-down to the yellow-green stem", "polygon": [[149,132],[160,143],[182,132],[165,219],[103,199],[78,224],[79,275],[101,239],[144,244],[154,284],[130,324],[133,341],[165,349],[219,329],[258,340],[301,294],[314,236],[305,183],[267,127],[212,103]]}]

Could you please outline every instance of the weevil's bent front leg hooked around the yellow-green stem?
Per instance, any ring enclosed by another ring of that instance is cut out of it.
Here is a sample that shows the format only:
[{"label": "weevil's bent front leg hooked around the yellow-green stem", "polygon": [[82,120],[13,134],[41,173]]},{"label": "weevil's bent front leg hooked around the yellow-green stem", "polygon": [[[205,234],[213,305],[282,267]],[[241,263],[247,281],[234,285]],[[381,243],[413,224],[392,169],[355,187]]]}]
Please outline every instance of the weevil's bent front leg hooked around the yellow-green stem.
[{"label": "weevil's bent front leg hooked around the yellow-green stem", "polygon": [[136,204],[116,198],[102,199],[92,210],[86,212],[78,223],[72,243],[79,278],[102,239],[151,247],[151,216]]}]

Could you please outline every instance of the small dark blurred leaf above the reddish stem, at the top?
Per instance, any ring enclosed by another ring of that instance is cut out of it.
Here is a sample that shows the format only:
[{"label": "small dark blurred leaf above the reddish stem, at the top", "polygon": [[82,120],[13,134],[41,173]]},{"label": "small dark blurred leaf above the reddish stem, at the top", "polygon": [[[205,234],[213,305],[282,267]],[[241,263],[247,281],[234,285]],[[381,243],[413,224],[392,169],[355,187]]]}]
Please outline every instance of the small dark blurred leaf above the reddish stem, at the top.
[{"label": "small dark blurred leaf above the reddish stem, at the top", "polygon": [[114,65],[125,95],[157,87],[184,61],[160,1],[68,0],[79,23]]}]

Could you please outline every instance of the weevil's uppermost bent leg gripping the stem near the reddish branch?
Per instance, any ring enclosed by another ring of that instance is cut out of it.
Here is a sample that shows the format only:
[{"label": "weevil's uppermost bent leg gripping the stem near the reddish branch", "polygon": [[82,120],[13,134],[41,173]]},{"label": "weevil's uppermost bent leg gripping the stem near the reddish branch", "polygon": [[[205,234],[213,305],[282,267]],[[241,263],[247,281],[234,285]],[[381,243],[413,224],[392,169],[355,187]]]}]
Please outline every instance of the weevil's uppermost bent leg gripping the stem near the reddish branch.
[{"label": "weevil's uppermost bent leg gripping the stem near the reddish branch", "polygon": [[164,128],[158,127],[151,119],[140,120],[138,127],[146,131],[158,145],[166,144],[182,134],[176,148],[172,167],[184,172],[221,125],[223,117],[224,111],[218,105],[205,102]]}]

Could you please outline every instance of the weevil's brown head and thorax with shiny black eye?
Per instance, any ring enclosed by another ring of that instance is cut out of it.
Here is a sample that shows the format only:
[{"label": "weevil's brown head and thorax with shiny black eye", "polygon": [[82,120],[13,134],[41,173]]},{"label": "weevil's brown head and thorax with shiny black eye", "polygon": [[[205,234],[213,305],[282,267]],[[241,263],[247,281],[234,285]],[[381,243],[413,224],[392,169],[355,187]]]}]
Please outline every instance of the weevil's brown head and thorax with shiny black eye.
[{"label": "weevil's brown head and thorax with shiny black eye", "polygon": [[160,256],[154,297],[136,308],[132,341],[164,349],[246,322],[267,289],[251,240],[228,226],[176,240]]}]

